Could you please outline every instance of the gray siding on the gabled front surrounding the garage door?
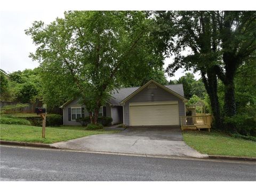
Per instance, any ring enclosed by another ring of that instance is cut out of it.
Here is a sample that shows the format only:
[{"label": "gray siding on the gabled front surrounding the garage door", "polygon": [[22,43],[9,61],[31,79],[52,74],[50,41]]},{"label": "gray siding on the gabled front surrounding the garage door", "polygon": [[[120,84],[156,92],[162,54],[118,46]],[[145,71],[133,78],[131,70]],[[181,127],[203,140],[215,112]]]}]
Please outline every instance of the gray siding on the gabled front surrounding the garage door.
[{"label": "gray siding on the gabled front surrounding the garage door", "polygon": [[[151,97],[151,94],[154,97]],[[148,89],[145,87],[142,91],[135,94],[130,100],[124,103],[124,124],[130,126],[129,103],[130,102],[154,102],[154,101],[178,101],[179,116],[185,116],[185,105],[183,101],[175,95],[165,91],[161,87],[156,89]]]}]

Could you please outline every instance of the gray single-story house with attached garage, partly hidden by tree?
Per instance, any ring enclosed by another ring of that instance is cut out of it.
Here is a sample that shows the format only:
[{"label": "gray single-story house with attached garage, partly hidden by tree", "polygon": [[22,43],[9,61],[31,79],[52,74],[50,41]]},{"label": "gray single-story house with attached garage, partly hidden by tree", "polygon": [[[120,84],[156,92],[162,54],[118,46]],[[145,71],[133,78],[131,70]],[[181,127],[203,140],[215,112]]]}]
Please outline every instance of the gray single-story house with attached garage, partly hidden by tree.
[{"label": "gray single-story house with attached garage, partly hidden by tree", "polygon": [[[99,116],[112,117],[112,124],[126,126],[180,125],[180,116],[186,116],[182,84],[161,85],[150,80],[141,87],[123,88],[114,91]],[[64,103],[63,124],[80,125],[76,118],[89,116],[78,99]]]}]

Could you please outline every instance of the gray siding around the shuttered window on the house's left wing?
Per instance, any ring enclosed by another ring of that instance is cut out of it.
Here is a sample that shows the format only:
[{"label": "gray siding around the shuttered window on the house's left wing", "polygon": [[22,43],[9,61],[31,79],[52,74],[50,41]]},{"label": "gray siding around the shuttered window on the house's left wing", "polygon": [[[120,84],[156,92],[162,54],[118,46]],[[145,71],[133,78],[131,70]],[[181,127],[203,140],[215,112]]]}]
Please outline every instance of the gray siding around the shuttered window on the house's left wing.
[{"label": "gray siding around the shuttered window on the house's left wing", "polygon": [[[71,107],[84,107],[84,116],[89,116],[88,111],[86,110],[85,106],[81,106],[79,103],[77,103],[78,99],[75,99],[68,103],[65,107],[63,107],[63,125],[81,125],[81,123],[78,123],[76,121],[68,121],[68,108]],[[111,107],[108,103],[106,103],[106,116],[111,117]]]}]

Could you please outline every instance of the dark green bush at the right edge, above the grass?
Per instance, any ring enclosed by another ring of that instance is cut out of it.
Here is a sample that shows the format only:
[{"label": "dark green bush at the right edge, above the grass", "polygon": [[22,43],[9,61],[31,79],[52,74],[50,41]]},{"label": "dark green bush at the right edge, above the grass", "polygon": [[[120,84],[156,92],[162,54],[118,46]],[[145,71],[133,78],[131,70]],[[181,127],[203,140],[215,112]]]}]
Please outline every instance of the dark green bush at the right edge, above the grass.
[{"label": "dark green bush at the right edge, above the grass", "polygon": [[225,125],[236,127],[239,134],[244,136],[256,136],[255,119],[247,115],[236,115],[233,117],[226,117],[224,119]]}]

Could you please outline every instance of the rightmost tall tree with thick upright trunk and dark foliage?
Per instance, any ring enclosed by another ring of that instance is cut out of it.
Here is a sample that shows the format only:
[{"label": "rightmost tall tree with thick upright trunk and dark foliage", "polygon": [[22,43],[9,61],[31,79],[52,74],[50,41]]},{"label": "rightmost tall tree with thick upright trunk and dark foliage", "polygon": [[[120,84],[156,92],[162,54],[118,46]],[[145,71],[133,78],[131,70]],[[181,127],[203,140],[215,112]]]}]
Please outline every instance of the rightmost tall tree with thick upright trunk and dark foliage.
[{"label": "rightmost tall tree with thick upright trunk and dark foliage", "polygon": [[231,117],[236,115],[236,71],[256,50],[256,11],[222,11],[215,15],[223,60],[223,65],[217,66],[217,75],[225,85],[225,113]]}]

